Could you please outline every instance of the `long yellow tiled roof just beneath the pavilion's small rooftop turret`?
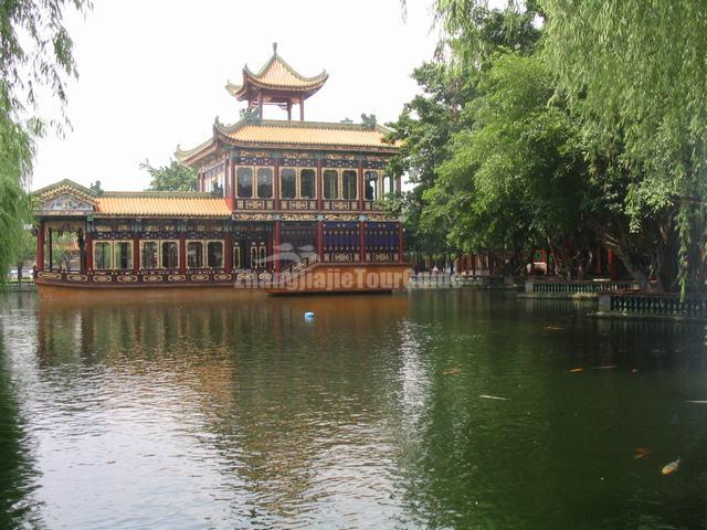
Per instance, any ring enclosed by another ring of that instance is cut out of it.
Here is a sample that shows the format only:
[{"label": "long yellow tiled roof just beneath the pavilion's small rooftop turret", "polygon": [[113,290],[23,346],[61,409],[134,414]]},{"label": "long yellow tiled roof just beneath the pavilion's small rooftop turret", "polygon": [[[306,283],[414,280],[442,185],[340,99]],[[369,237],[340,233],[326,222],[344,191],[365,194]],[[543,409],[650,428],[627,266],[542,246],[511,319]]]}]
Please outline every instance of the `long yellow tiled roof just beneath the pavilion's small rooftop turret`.
[{"label": "long yellow tiled roof just beneath the pavilion's small rooftop turret", "polygon": [[260,124],[242,123],[224,127],[222,132],[232,140],[253,144],[395,148],[394,145],[383,142],[388,129],[367,129],[354,124],[263,120]]}]

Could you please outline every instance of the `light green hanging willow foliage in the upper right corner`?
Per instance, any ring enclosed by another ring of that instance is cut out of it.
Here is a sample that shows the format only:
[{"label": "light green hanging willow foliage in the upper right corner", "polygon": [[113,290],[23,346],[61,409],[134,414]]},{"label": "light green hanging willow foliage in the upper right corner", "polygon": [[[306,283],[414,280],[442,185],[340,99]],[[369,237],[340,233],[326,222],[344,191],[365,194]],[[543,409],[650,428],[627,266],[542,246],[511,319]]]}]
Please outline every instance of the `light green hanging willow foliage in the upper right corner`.
[{"label": "light green hanging willow foliage in the upper right corner", "polygon": [[707,3],[546,0],[547,55],[570,106],[621,136],[626,213],[674,206],[680,285],[699,287],[707,191]]}]

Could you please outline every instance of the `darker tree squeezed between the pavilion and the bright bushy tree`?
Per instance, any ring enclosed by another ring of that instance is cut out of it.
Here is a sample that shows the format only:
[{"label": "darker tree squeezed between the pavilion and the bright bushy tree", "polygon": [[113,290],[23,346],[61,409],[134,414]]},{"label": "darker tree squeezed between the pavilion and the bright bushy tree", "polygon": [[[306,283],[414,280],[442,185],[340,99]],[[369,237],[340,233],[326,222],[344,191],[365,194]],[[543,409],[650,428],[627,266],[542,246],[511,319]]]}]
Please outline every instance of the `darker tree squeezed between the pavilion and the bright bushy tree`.
[{"label": "darker tree squeezed between the pavilion and the bright bushy tree", "polygon": [[[460,251],[478,250],[473,242],[458,237],[449,213],[465,208],[463,194],[440,186],[428,193],[437,180],[437,168],[450,158],[451,138],[468,128],[468,116],[462,116],[464,106],[478,96],[479,72],[503,51],[530,53],[540,36],[535,28],[535,11],[488,10],[474,7],[469,11],[466,29],[475,35],[476,47],[466,45],[468,39],[449,35],[440,44],[439,56],[471,56],[473,61],[456,61],[454,68],[443,61],[434,61],[415,68],[412,77],[422,94],[405,104],[395,123],[392,139],[402,140],[400,153],[391,160],[389,170],[407,174],[414,188],[394,202],[402,215],[409,250],[424,255],[445,255]],[[513,20],[513,24],[510,23]],[[506,31],[513,25],[513,31]],[[445,190],[447,192],[444,192]],[[449,206],[449,208],[447,208]]]}]

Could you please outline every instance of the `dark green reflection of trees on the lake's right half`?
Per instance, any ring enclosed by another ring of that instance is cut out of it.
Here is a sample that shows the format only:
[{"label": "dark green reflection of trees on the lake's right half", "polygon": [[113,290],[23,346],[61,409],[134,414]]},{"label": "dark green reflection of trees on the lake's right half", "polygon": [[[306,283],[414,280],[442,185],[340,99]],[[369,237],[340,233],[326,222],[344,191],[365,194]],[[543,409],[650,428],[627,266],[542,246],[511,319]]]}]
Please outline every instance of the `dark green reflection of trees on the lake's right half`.
[{"label": "dark green reflection of trees on the lake's right half", "polygon": [[[429,528],[703,528],[707,476],[671,488],[665,502],[666,490],[652,486],[656,464],[637,466],[633,455],[650,445],[672,458],[679,446],[707,464],[697,442],[707,426],[680,411],[686,388],[704,391],[690,382],[707,370],[693,354],[704,351],[704,330],[592,319],[546,301],[529,310],[502,294],[415,293],[401,329],[397,443],[414,519]],[[577,365],[584,371],[568,373]],[[445,375],[451,368],[458,372]],[[683,422],[668,425],[676,411]]]}]

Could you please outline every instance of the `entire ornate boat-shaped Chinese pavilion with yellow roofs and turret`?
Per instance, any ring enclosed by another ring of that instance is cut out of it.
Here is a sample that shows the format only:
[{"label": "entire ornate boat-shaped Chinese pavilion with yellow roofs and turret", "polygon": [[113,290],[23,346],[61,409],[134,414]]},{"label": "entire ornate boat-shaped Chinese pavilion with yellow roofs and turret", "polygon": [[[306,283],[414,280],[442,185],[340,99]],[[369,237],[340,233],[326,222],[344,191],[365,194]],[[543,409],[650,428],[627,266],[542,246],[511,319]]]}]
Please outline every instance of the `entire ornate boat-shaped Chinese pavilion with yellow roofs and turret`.
[{"label": "entire ornate boat-shaped Chinese pavilion with yellow roofs and turret", "polygon": [[[399,146],[374,124],[305,121],[304,102],[327,77],[298,74],[276,51],[257,74],[244,68],[229,92],[247,102],[246,117],[217,119],[205,142],[177,150],[198,191],[103,192],[70,180],[36,191],[40,295],[404,288],[402,227],[380,201],[401,192],[401,177],[386,171]],[[268,104],[288,119],[263,119]]]}]

